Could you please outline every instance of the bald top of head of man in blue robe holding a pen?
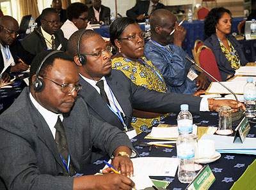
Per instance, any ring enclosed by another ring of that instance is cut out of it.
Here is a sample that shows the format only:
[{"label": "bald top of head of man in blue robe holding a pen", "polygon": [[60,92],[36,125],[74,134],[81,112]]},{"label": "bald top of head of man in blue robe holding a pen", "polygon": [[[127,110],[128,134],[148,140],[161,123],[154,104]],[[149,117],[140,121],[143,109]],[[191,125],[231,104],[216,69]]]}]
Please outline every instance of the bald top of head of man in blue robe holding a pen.
[{"label": "bald top of head of man in blue robe holding a pen", "polygon": [[174,26],[176,21],[177,21],[177,17],[173,15],[173,13],[165,9],[158,9],[154,11],[150,16],[150,27],[151,27],[152,33],[156,32],[155,31],[156,26],[164,27],[166,25],[169,25],[170,22],[172,22]]}]

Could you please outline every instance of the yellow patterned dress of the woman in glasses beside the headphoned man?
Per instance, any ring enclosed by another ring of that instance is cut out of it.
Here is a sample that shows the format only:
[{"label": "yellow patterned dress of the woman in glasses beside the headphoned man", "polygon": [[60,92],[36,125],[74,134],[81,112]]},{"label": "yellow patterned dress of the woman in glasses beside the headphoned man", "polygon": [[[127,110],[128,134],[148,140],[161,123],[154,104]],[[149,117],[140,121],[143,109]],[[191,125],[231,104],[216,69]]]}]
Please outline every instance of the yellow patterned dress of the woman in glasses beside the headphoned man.
[{"label": "yellow patterned dress of the woman in glasses beside the headphoned man", "polygon": [[[140,57],[146,64],[154,68],[163,79],[161,72],[148,61],[146,57]],[[158,92],[168,92],[166,84],[162,82],[154,69],[149,66],[142,65],[139,62],[131,61],[124,57],[117,57],[112,60],[112,68],[122,71],[127,77],[129,77],[132,82],[136,85],[141,85],[147,89],[158,91]],[[131,126],[136,129],[137,134],[150,128],[152,125],[157,124],[157,122],[163,120],[168,114],[156,117],[154,119],[145,119],[139,117],[132,117]]]}]

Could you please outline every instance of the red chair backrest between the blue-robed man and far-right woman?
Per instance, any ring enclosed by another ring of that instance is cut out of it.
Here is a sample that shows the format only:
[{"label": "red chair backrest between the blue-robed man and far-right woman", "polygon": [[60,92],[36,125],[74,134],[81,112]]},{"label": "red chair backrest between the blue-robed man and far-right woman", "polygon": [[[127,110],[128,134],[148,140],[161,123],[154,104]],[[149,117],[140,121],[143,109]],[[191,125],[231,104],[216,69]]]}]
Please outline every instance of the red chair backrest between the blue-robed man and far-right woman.
[{"label": "red chair backrest between the blue-robed man and far-right woman", "polygon": [[[198,48],[198,62],[200,63],[200,66],[205,69],[205,71],[210,73],[217,80],[222,81],[215,56],[209,47],[202,45]],[[208,77],[210,76],[208,75]],[[210,78],[212,82],[216,81],[212,77]]]}]

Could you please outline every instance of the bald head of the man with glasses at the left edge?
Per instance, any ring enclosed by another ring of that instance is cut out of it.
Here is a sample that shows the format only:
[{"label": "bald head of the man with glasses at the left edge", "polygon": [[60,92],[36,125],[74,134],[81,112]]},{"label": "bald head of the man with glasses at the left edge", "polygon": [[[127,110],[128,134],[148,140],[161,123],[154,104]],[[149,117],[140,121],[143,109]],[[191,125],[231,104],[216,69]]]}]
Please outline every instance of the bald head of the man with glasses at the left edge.
[{"label": "bald head of the man with glasses at the left edge", "polygon": [[0,18],[0,26],[0,43],[4,47],[12,45],[19,31],[17,20],[10,16],[3,16]]}]

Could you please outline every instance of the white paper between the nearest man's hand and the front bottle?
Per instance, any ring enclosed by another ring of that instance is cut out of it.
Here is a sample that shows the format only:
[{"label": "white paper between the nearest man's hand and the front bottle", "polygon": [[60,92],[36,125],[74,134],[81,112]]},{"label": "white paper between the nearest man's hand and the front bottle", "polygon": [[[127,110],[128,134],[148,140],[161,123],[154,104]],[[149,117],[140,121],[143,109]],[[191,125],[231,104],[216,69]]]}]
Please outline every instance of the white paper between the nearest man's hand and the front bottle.
[{"label": "white paper between the nearest man's hand and the front bottle", "polygon": [[174,177],[179,159],[175,157],[136,157],[132,158],[134,176]]}]

